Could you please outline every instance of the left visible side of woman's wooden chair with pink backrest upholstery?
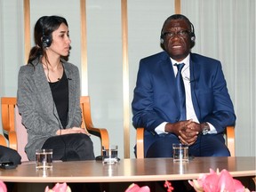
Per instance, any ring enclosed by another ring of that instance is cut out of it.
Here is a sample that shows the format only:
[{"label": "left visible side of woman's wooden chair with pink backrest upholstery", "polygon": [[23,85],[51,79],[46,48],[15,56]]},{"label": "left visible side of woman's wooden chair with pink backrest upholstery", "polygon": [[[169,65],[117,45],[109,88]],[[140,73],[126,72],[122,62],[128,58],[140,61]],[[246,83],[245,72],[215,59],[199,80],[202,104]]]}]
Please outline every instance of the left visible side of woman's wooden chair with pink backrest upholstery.
[{"label": "left visible side of woman's wooden chair with pink backrest upholstery", "polygon": [[21,124],[21,116],[16,103],[17,99],[15,97],[1,98],[2,124],[4,134],[7,135],[9,140],[9,148],[17,150],[21,156],[21,162],[24,162],[28,161],[28,156],[25,152],[28,133],[24,125]]}]

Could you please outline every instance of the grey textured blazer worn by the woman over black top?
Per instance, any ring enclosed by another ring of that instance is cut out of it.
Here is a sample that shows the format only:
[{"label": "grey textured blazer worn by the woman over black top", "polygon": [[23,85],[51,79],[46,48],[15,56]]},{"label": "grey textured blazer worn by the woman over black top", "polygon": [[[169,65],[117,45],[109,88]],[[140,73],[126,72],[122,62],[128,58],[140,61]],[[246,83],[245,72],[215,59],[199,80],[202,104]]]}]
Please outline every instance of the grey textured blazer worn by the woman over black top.
[{"label": "grey textured blazer worn by the woman over black top", "polygon": [[[78,68],[62,60],[68,78],[68,125],[80,127],[82,114],[80,108],[80,77]],[[36,159],[36,149],[42,148],[44,141],[63,128],[57,108],[52,99],[50,85],[44,74],[44,68],[38,60],[33,65],[20,67],[18,79],[17,104],[22,124],[28,132],[28,144],[25,151],[29,160]],[[19,135],[18,135],[19,137]]]}]

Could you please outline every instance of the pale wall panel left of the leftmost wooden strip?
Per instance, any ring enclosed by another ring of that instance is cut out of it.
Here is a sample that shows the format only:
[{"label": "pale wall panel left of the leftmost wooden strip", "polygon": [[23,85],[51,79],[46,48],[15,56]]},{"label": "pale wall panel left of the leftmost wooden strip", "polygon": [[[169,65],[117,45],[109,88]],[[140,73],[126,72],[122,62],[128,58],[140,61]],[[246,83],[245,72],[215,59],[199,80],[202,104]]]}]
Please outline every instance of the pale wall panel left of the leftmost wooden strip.
[{"label": "pale wall panel left of the leftmost wooden strip", "polygon": [[[16,95],[17,76],[23,63],[22,4],[19,0],[1,1],[1,48],[0,48],[0,92],[2,95]],[[2,96],[1,95],[1,96]]]}]

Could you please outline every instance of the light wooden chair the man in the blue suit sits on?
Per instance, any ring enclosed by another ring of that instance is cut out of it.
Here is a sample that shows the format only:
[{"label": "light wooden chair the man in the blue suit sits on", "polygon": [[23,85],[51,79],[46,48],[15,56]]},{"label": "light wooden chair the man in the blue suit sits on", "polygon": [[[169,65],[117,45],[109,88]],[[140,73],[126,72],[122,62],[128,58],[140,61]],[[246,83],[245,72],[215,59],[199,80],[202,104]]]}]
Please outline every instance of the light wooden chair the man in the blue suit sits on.
[{"label": "light wooden chair the man in the blue suit sits on", "polygon": [[[235,127],[228,126],[224,134],[231,156],[235,156]],[[137,158],[144,158],[144,128],[136,129]]]}]

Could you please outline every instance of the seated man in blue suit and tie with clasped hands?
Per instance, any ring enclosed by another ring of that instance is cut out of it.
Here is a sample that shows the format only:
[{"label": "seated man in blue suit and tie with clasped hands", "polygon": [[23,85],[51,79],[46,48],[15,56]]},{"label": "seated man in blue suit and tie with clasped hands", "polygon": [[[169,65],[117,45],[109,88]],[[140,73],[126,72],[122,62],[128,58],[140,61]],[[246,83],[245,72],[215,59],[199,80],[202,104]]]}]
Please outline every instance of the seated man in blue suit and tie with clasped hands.
[{"label": "seated man in blue suit and tie with clasped hands", "polygon": [[164,52],[140,60],[132,121],[145,128],[146,157],[172,157],[179,142],[191,156],[230,156],[222,132],[236,116],[221,63],[190,52],[195,39],[188,18],[174,14],[161,31]]}]

